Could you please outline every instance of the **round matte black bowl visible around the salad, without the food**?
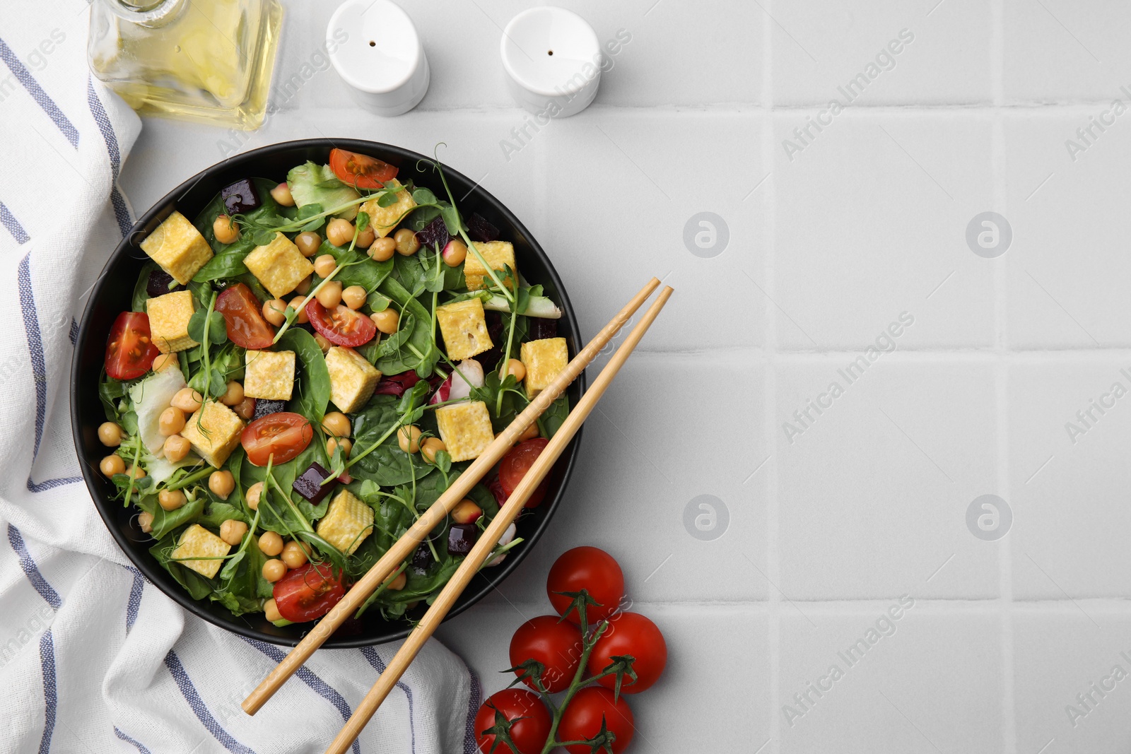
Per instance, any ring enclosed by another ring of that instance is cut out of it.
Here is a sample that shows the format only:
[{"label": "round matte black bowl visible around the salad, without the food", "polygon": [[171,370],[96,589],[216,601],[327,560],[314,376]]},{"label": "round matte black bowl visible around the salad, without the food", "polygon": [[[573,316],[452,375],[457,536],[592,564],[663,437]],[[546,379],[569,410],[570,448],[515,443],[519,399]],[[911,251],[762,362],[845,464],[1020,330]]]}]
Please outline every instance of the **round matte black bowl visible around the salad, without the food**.
[{"label": "round matte black bowl visible around the salad, without the food", "polygon": [[[236,617],[217,603],[197,601],[189,597],[173,577],[149,555],[148,549],[153,541],[138,528],[133,506],[124,508],[113,500],[114,486],[97,471],[98,460],[106,454],[97,437],[98,425],[105,421],[97,385],[110,327],[119,312],[130,309],[133,283],[143,262],[147,259],[141,251],[140,242],[174,209],[187,217],[196,217],[222,188],[244,177],[259,176],[282,181],[291,167],[308,159],[326,163],[333,147],[372,155],[397,165],[400,168],[399,180],[413,179],[417,184],[429,187],[438,196],[443,196],[439,175],[430,166],[417,162],[426,159],[424,155],[375,141],[357,139],[286,141],[213,165],[154,205],[138,219],[127,239],[114,250],[83,313],[71,365],[71,425],[75,432],[75,448],[80,458],[79,466],[83,468],[83,476],[94,504],[119,546],[150,582],[187,610],[222,629],[284,645],[299,643],[313,624],[296,624],[280,629],[269,623],[261,614]],[[546,295],[561,307],[562,319],[558,323],[558,333],[567,339],[570,352],[576,354],[581,340],[573,307],[542,246],[502,202],[461,173],[447,166],[443,171],[452,194],[457,198],[466,194],[466,198],[459,201],[459,209],[464,216],[478,213],[495,225],[500,231],[500,237],[515,244],[515,254],[523,276],[532,283],[542,284]],[[584,390],[585,374],[569,389],[571,402],[576,404]],[[542,536],[566,492],[567,482],[577,459],[579,440],[580,433],[558,461],[545,502],[537,509],[528,511],[519,520],[518,536],[524,541],[510,552],[501,565],[485,569],[472,580],[452,607],[449,617],[474,605],[506,579]],[[424,608],[423,605],[417,607],[416,615],[423,614]],[[383,621],[377,610],[370,610],[361,619],[346,622],[325,647],[366,647],[400,639],[408,635],[409,630],[411,626],[406,621]]]}]

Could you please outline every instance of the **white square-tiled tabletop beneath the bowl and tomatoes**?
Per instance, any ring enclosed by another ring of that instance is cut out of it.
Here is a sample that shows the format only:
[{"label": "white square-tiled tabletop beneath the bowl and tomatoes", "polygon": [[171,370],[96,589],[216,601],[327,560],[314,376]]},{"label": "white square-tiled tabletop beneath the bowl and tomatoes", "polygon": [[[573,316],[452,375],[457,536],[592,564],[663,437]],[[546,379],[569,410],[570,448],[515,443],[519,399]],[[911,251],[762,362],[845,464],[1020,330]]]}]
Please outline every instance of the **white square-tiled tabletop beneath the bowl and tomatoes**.
[{"label": "white square-tiled tabletop beneath the bowl and tomatoes", "polygon": [[[499,36],[528,3],[402,2],[432,66],[414,112],[353,107],[318,70],[334,3],[292,2],[276,80],[300,84],[282,111],[250,135],[148,121],[122,181],[143,209],[265,144],[446,141],[549,250],[585,333],[651,274],[676,288],[590,419],[553,530],[440,632],[486,691],[521,616],[547,612],[553,558],[593,544],[671,649],[664,682],[632,699],[632,751],[1126,751],[1131,681],[1091,692],[1090,711],[1077,694],[1131,673],[1131,397],[1093,409],[1074,443],[1065,423],[1131,389],[1131,114],[1074,161],[1065,140],[1113,98],[1131,106],[1131,7],[559,0],[631,42],[588,111],[508,158],[526,118]],[[791,158],[783,140],[901,29],[893,67]],[[986,210],[1013,232],[995,259],[965,241]],[[683,242],[700,211],[728,228],[713,258]],[[838,370],[905,312],[881,338],[895,350],[848,384]],[[844,395],[788,437],[832,381]],[[1012,510],[998,540],[967,528],[983,494]],[[724,536],[685,529],[698,495],[725,504]],[[886,621],[901,595],[914,606]],[[839,653],[877,626],[849,665]],[[832,665],[843,676],[822,681]],[[1074,726],[1069,704],[1087,712]]]}]

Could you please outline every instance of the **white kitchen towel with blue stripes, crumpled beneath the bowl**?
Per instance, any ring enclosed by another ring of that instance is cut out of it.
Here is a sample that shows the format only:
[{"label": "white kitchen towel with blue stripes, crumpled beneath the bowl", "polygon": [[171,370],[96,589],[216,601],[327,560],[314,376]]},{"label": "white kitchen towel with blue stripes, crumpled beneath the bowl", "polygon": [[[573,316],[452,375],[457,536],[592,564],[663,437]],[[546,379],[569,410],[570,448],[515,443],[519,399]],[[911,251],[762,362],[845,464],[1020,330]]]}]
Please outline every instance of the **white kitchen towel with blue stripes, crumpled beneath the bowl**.
[{"label": "white kitchen towel with blue stripes, crumpled beneath the bowl", "polygon": [[[141,123],[86,66],[86,0],[0,15],[0,752],[322,752],[397,644],[321,650],[256,717],[284,655],[185,614],[130,566],[81,484],[77,319],[132,214]],[[472,753],[478,681],[430,641],[356,754]]]}]

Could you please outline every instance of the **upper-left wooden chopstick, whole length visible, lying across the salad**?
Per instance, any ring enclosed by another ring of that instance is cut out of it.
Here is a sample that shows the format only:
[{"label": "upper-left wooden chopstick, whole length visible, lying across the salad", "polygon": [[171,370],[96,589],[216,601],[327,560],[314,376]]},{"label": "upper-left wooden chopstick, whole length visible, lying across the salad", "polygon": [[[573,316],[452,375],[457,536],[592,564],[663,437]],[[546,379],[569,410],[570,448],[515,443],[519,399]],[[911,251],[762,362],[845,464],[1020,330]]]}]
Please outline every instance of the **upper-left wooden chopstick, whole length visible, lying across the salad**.
[{"label": "upper-left wooden chopstick, whole length visible, lying across the salad", "polygon": [[[363,575],[342,600],[334,606],[334,608],[327,613],[321,621],[319,621],[314,627],[303,636],[302,641],[295,645],[294,649],[287,653],[283,661],[271,670],[266,678],[252,691],[245,700],[243,700],[243,711],[248,714],[254,714],[258,712],[262,705],[271,697],[271,695],[279,690],[279,687],[297,671],[302,664],[310,659],[310,656],[314,653],[322,643],[330,638],[338,626],[340,626],[347,617],[349,617],[365,599],[373,593],[373,591],[385,582],[389,575],[392,574],[400,564],[407,560],[416,547],[424,540],[424,538],[432,531],[438,523],[440,523],[450,512],[451,509],[456,506],[459,501],[467,496],[472,487],[478,484],[487,471],[490,471],[495,463],[498,463],[502,457],[510,450],[518,437],[527,427],[533,424],[543,411],[549,408],[550,404],[554,401],[558,396],[560,396],[566,388],[577,379],[585,367],[596,358],[597,354],[601,352],[605,345],[613,338],[614,335],[629,321],[629,318],[636,313],[638,309],[644,304],[645,301],[651,295],[651,292],[659,286],[659,280],[653,278],[640,289],[632,300],[624,305],[624,307],[616,313],[616,315],[610,320],[601,332],[598,332],[593,340],[590,340],[585,348],[582,348],[577,356],[575,356],[562,373],[558,375],[556,379],[547,387],[545,390],[539,392],[537,397],[530,401],[510,425],[500,432],[490,445],[484,449],[480,457],[476,458],[467,469],[456,477],[451,486],[444,491],[440,497],[432,503],[431,506],[424,513],[421,514],[420,519],[409,527],[409,529],[402,535],[400,539],[389,547],[388,552],[378,560],[377,563]],[[560,431],[560,430],[559,430]],[[543,453],[544,454],[544,453]],[[368,718],[366,718],[368,719]]]}]

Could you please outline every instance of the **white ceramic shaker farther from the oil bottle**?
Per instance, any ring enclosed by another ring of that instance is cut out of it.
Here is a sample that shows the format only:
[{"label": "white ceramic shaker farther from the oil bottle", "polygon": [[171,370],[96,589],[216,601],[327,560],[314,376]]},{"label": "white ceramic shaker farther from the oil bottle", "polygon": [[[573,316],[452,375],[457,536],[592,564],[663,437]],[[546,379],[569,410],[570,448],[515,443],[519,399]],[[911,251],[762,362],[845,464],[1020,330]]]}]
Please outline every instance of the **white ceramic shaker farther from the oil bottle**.
[{"label": "white ceramic shaker farther from the oil bottle", "polygon": [[576,115],[601,85],[601,43],[571,10],[542,6],[510,19],[500,43],[515,101],[534,114]]}]

